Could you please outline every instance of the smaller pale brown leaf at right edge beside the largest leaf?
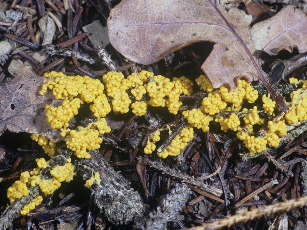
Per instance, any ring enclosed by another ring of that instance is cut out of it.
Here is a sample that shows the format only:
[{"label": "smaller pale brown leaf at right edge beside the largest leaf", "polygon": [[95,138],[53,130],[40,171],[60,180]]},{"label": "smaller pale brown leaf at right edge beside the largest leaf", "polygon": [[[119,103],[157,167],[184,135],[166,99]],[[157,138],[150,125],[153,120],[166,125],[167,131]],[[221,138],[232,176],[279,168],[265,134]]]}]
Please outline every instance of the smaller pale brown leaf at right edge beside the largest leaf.
[{"label": "smaller pale brown leaf at right edge beside the largest leaf", "polygon": [[280,50],[292,52],[297,47],[300,53],[307,51],[307,16],[296,6],[285,6],[278,14],[251,28],[255,48],[270,55]]}]

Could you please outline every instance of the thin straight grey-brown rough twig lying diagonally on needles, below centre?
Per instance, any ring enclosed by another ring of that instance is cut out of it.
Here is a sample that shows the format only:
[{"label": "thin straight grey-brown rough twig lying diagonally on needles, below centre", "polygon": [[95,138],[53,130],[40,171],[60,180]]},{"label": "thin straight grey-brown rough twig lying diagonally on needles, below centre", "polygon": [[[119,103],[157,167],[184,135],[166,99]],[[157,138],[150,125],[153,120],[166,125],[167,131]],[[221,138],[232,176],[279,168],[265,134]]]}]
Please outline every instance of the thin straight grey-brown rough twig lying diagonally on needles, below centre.
[{"label": "thin straight grey-brown rough twig lying diagonally on needles, below centre", "polygon": [[210,193],[210,194],[215,195],[217,197],[220,197],[223,194],[222,190],[217,189],[217,188],[210,186],[210,185],[206,185],[206,184],[204,184],[200,181],[197,181],[193,177],[191,177],[189,175],[185,175],[182,172],[178,172],[178,171],[173,170],[169,167],[166,167],[165,165],[163,165],[160,162],[154,162],[150,159],[145,159],[145,157],[143,157],[143,156],[139,156],[138,159],[143,159],[147,164],[149,164],[150,167],[153,167],[157,170],[164,172],[165,174],[168,174],[172,177],[175,177],[178,180],[181,180],[181,182],[185,182],[185,183],[190,184],[192,186],[195,186],[195,187],[197,187],[201,190],[204,190],[207,193]]}]

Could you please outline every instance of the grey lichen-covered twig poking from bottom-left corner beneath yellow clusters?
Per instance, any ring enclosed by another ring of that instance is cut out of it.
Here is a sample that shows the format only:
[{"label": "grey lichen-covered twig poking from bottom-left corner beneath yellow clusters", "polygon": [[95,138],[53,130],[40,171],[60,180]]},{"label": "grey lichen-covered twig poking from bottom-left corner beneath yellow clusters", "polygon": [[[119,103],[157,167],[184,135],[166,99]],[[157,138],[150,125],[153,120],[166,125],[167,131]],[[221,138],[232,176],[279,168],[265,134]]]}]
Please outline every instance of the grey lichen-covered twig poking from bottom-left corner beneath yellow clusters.
[{"label": "grey lichen-covered twig poking from bottom-left corner beneath yellow clusters", "polygon": [[8,206],[0,217],[0,229],[10,228],[12,221],[20,216],[20,210],[39,194],[39,187],[34,186],[29,188],[29,195],[17,199],[11,206]]}]

